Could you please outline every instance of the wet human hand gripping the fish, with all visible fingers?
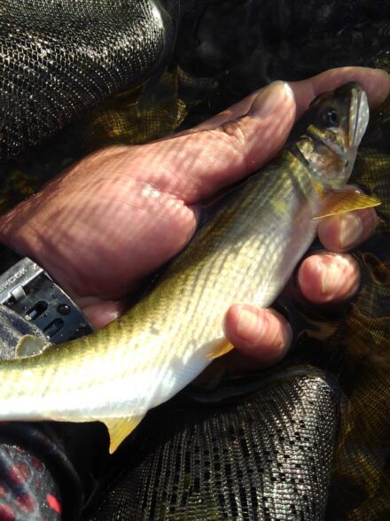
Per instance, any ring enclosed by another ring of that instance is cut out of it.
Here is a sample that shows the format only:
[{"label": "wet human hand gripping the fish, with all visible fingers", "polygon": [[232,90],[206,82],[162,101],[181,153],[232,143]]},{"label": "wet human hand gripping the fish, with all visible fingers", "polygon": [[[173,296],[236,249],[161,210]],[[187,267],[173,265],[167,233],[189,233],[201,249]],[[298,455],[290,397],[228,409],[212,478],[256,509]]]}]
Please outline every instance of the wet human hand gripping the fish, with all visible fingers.
[{"label": "wet human hand gripping the fish, with all visible fingers", "polygon": [[[46,268],[101,327],[121,314],[121,299],[188,242],[199,201],[269,161],[313,97],[352,80],[362,83],[371,106],[390,89],[380,71],[335,69],[291,89],[274,83],[190,132],[96,152],[5,214],[0,239]],[[373,210],[354,212],[321,222],[319,237],[342,253],[375,225]],[[331,302],[355,292],[359,269],[346,254],[320,253],[303,261],[297,280],[307,299]],[[248,304],[230,307],[224,328],[251,366],[253,359],[277,361],[291,342],[281,315]]]}]

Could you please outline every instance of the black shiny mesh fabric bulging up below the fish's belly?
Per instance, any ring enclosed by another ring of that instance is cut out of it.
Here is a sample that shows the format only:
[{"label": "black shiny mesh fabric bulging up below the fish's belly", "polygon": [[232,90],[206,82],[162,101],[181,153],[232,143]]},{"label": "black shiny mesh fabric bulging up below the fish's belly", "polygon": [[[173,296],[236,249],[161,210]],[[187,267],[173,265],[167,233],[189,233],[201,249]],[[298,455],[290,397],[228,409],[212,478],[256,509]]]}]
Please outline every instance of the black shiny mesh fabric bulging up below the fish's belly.
[{"label": "black shiny mesh fabric bulging up below the fish's belly", "polygon": [[338,404],[337,387],[300,370],[246,400],[152,414],[87,518],[320,519]]}]

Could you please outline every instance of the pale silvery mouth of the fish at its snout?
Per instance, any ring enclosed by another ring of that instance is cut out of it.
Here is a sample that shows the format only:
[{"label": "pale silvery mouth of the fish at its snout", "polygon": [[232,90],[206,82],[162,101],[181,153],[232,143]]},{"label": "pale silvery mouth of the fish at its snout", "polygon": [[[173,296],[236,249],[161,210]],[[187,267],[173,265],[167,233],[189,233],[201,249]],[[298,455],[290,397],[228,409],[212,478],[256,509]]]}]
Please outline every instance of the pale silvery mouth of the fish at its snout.
[{"label": "pale silvery mouth of the fish at its snout", "polygon": [[357,82],[349,82],[341,89],[350,92],[348,147],[355,151],[362,141],[370,118],[367,95],[362,85]]}]

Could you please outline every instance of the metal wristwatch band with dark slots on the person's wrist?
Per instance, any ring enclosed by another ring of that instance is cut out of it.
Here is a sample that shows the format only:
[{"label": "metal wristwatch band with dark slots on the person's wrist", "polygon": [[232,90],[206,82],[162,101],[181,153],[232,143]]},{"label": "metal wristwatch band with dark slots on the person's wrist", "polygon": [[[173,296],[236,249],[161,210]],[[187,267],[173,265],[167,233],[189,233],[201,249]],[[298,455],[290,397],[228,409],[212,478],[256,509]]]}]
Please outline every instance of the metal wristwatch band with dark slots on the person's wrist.
[{"label": "metal wristwatch band with dark slots on the person's wrist", "polygon": [[34,323],[55,344],[93,331],[82,310],[28,257],[0,245],[0,304]]}]

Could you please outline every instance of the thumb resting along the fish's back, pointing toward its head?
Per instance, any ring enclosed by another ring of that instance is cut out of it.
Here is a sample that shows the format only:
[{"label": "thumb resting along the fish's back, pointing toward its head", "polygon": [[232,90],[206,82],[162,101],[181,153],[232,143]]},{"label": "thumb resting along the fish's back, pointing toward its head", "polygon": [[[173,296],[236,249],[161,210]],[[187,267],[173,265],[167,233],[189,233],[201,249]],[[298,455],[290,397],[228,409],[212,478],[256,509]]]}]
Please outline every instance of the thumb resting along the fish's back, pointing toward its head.
[{"label": "thumb resting along the fish's back, pointing toward its head", "polygon": [[[239,114],[240,108],[247,109],[235,105],[194,131],[141,147],[145,167],[167,172],[159,179],[160,190],[193,204],[252,174],[279,151],[295,118],[290,86],[271,83],[247,112]],[[230,113],[235,119],[226,121]]]}]

